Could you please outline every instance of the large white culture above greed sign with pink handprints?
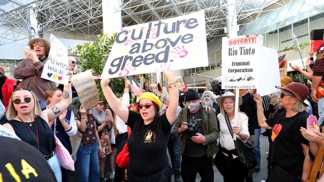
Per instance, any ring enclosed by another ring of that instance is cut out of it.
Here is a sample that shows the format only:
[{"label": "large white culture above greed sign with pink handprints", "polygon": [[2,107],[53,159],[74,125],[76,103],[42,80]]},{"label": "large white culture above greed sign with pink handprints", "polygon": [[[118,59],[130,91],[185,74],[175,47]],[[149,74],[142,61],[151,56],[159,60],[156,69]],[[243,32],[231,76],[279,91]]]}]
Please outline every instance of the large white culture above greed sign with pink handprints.
[{"label": "large white culture above greed sign with pink handprints", "polygon": [[124,27],[101,78],[208,66],[204,11]]}]

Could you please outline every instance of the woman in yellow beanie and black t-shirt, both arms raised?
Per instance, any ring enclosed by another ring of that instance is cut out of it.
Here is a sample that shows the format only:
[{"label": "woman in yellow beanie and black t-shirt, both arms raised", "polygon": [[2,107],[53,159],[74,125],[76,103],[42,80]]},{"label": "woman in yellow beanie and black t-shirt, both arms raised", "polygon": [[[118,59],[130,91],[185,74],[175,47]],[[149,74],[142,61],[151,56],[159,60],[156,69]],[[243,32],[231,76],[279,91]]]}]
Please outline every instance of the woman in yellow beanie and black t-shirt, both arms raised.
[{"label": "woman in yellow beanie and black t-shirt, both arms raised", "polygon": [[151,92],[142,93],[137,107],[140,114],[126,109],[108,87],[110,79],[101,80],[104,95],[113,111],[132,129],[128,139],[130,182],[170,182],[170,166],[166,146],[175,121],[178,105],[178,88],[173,71],[164,71],[169,92],[169,106],[159,116],[160,99]]}]

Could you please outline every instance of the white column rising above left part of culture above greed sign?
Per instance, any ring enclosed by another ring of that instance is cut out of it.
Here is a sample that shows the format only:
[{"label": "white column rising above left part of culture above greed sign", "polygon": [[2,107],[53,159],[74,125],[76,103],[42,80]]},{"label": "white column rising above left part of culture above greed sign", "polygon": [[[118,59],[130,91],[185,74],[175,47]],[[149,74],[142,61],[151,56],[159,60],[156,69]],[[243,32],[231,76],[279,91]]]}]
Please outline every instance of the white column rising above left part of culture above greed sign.
[{"label": "white column rising above left part of culture above greed sign", "polygon": [[122,27],[122,12],[119,11],[121,0],[102,0],[103,33],[112,35],[120,32]]}]

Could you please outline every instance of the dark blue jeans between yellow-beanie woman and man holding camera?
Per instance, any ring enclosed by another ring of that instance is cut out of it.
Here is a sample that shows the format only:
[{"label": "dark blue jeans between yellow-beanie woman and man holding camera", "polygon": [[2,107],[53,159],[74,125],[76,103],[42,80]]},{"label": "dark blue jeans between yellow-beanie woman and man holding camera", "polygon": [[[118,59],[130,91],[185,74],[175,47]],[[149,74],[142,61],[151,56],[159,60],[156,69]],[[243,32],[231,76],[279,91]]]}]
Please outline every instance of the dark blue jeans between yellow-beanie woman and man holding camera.
[{"label": "dark blue jeans between yellow-beanie woman and man holding camera", "polygon": [[181,156],[179,153],[180,148],[180,137],[169,136],[167,142],[167,151],[169,152],[172,169],[174,169],[175,175],[180,175]]}]

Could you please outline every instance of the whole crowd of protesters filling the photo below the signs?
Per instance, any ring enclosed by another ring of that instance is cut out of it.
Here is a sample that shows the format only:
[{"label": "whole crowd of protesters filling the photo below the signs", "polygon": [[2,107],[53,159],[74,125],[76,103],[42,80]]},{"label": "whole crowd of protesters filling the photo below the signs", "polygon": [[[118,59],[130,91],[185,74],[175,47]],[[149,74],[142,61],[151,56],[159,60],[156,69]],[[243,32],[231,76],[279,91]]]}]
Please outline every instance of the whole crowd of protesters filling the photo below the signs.
[{"label": "whole crowd of protesters filling the photo below the signs", "polygon": [[[0,67],[0,181],[69,182],[74,172],[60,167],[57,138],[76,162],[78,182],[170,182],[172,176],[175,182],[195,182],[197,173],[202,182],[214,182],[213,164],[224,182],[253,182],[261,163],[268,164],[267,182],[324,182],[323,49],[313,66],[310,53],[307,71],[291,66],[312,80],[311,89],[284,77],[279,91],[269,95],[242,89],[238,100],[235,90],[200,96],[179,92],[174,72],[166,70],[168,94],[158,97],[144,82],[143,93],[130,103],[126,77],[120,98],[103,78],[106,100],[88,109],[70,81],[56,88],[40,77],[49,50],[44,39],[29,41],[26,58],[13,72],[21,82]],[[76,68],[69,57],[70,79]],[[268,161],[261,161],[261,128],[267,129]],[[252,169],[240,159],[234,135],[253,144]]]}]

